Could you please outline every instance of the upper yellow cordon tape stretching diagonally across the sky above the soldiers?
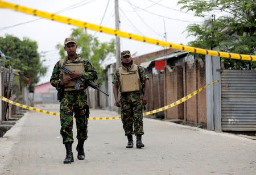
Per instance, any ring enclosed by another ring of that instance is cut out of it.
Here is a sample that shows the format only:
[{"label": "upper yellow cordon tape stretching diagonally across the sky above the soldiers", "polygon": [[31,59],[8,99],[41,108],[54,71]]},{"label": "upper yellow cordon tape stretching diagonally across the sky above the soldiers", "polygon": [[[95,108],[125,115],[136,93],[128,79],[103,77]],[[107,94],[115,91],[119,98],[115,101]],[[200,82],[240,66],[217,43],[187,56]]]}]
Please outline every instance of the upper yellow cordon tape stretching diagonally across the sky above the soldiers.
[{"label": "upper yellow cordon tape stretching diagonally across the sky above the soldiers", "polygon": [[195,53],[199,53],[199,54],[203,54],[203,55],[226,57],[229,59],[256,61],[255,55],[241,55],[241,54],[237,54],[237,53],[218,52],[218,51],[211,51],[211,50],[206,50],[206,49],[201,49],[201,48],[189,47],[189,46],[181,45],[181,44],[168,43],[166,41],[160,41],[160,40],[146,38],[146,37],[139,36],[139,35],[129,34],[127,32],[114,30],[112,28],[97,26],[95,24],[82,22],[80,20],[75,20],[75,19],[64,17],[64,16],[60,16],[60,15],[50,14],[48,12],[30,9],[28,7],[19,6],[19,5],[15,5],[13,3],[8,3],[8,2],[4,2],[4,1],[0,1],[0,8],[11,9],[11,10],[23,12],[26,14],[39,16],[41,18],[55,20],[57,22],[71,24],[73,26],[77,26],[77,27],[81,27],[81,28],[88,28],[89,30],[103,32],[105,34],[115,35],[115,36],[119,36],[122,38],[142,41],[145,43],[150,43],[150,44],[155,44],[155,45],[161,45],[163,47],[171,47],[173,49],[178,49],[178,50],[183,50],[183,51],[188,51],[188,52],[195,52]]}]

